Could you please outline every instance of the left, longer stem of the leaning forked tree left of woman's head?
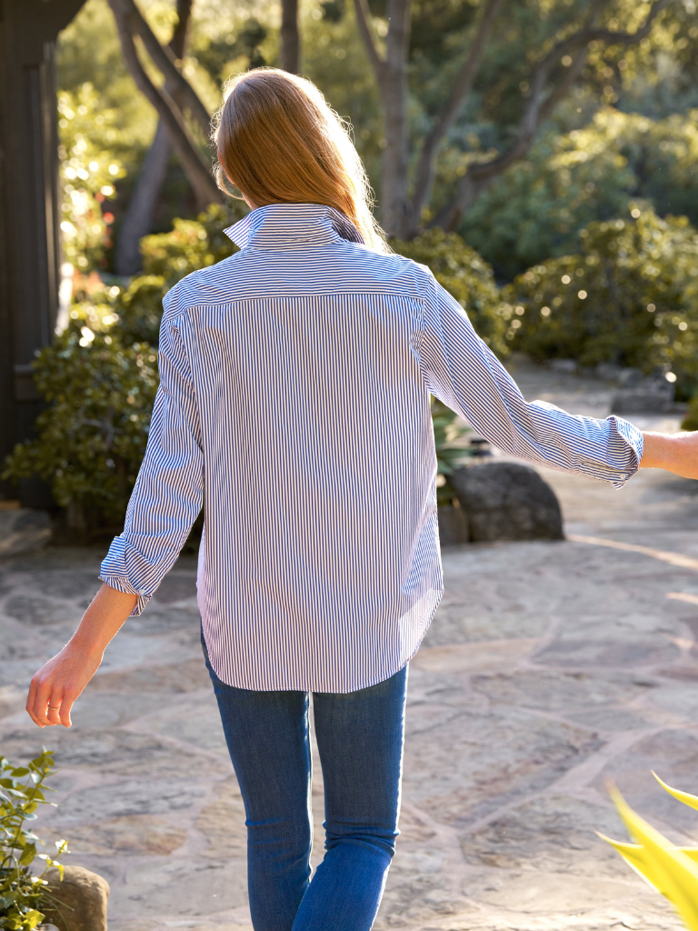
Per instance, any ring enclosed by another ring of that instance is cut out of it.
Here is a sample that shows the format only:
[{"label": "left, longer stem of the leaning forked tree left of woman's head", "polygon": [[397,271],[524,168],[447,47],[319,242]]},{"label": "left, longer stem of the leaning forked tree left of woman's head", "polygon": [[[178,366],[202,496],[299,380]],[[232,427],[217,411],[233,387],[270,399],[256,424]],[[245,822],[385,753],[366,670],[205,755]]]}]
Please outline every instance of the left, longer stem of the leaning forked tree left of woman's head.
[{"label": "left, longer stem of the leaning forked tree left of woman's head", "polygon": [[160,119],[165,124],[172,148],[180,156],[182,167],[195,190],[199,206],[203,208],[210,203],[222,203],[221,191],[219,191],[213,176],[198,154],[195,140],[189,132],[177,104],[168,95],[165,88],[158,89],[154,86],[141,65],[141,60],[133,43],[133,36],[128,30],[127,18],[123,13],[121,0],[109,0],[109,5],[114,12],[114,20],[116,20],[116,28],[128,71],[141,94],[152,103]]}]

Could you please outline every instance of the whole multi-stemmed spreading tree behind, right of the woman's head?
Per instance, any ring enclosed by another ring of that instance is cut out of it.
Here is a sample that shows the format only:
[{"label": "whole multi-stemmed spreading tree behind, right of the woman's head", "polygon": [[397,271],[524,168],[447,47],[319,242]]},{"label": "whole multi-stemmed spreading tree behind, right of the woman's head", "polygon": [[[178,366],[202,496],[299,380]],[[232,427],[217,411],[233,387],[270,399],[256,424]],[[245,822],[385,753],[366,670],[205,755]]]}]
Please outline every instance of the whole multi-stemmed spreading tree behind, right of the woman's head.
[{"label": "whole multi-stemmed spreading tree behind, right of the woman's head", "polygon": [[[445,102],[432,116],[421,151],[414,154],[416,169],[409,186],[408,71],[410,26],[415,0],[387,0],[384,52],[372,28],[369,0],[355,0],[359,32],[369,54],[383,103],[385,148],[383,153],[383,226],[392,236],[415,236],[423,223],[423,211],[432,207],[436,158],[440,145],[463,113],[476,87],[483,63],[492,48],[505,61],[524,56],[530,76],[519,84],[519,118],[509,138],[487,153],[471,159],[453,185],[450,196],[438,209],[432,209],[432,225],[454,229],[477,196],[506,169],[525,158],[545,121],[572,88],[589,83],[587,60],[592,49],[637,45],[648,34],[671,0],[653,0],[628,5],[625,0],[578,0],[554,7],[556,16],[545,21],[535,5],[527,15],[538,17],[543,28],[537,47],[525,47],[521,35],[507,37],[509,22],[521,15],[516,0],[481,0],[477,20],[469,29],[469,47],[452,77]],[[626,29],[621,29],[623,16]],[[540,32],[540,29],[539,29]],[[587,72],[587,74],[584,74]]]}]

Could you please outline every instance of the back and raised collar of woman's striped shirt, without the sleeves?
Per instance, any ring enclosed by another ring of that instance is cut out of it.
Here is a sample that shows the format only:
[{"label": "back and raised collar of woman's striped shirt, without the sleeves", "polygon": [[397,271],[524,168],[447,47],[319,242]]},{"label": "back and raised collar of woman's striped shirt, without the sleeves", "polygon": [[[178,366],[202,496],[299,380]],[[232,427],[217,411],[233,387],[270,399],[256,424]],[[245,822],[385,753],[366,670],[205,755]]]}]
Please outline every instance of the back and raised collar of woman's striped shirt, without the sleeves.
[{"label": "back and raised collar of woman's striped shirt, without the sleeves", "polygon": [[163,321],[208,465],[208,652],[243,688],[362,688],[404,666],[442,591],[414,345],[430,275],[315,204],[227,232],[241,250],[170,291]]}]

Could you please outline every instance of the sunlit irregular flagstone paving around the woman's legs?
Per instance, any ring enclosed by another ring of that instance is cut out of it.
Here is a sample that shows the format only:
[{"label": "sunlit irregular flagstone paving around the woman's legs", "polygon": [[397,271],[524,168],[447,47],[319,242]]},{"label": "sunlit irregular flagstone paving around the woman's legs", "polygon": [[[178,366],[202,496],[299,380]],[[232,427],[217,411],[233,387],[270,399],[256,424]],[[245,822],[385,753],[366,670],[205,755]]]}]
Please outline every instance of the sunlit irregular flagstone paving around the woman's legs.
[{"label": "sunlit irregular flagstone paving around the woman's legs", "polygon": [[[603,383],[515,375],[527,397],[608,412]],[[642,471],[618,492],[542,474],[567,540],[444,550],[444,599],[409,669],[402,833],[379,931],[681,927],[595,831],[625,837],[611,777],[675,843],[698,843],[698,812],[651,776],[698,791],[698,482]],[[56,750],[60,804],[36,830],[68,838],[65,862],[109,881],[110,931],[251,931],[243,807],[200,652],[192,558],[109,647],[72,730],[40,732],[23,710],[102,555],[55,547],[0,563],[0,752]]]}]

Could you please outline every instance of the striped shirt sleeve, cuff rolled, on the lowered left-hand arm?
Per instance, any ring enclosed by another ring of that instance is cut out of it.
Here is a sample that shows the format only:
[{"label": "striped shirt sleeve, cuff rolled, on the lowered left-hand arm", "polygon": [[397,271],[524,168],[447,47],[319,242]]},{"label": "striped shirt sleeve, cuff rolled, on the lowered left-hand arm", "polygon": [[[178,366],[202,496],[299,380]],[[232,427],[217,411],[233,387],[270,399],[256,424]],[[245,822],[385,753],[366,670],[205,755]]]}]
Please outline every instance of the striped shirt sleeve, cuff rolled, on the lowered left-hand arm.
[{"label": "striped shirt sleeve, cuff rolled, on the lowered left-hand arm", "polygon": [[181,338],[181,318],[160,328],[160,385],[145,457],[124,533],[114,538],[100,578],[138,595],[141,614],[180,555],[204,500],[204,455],[195,386]]}]

